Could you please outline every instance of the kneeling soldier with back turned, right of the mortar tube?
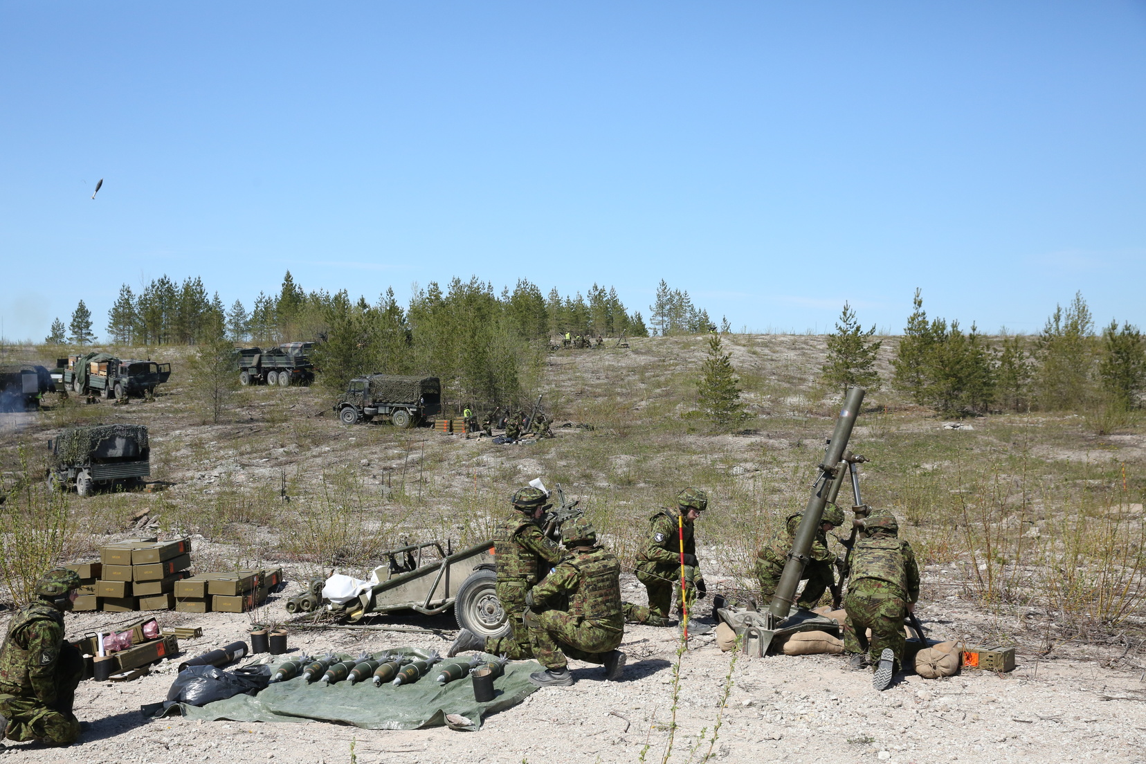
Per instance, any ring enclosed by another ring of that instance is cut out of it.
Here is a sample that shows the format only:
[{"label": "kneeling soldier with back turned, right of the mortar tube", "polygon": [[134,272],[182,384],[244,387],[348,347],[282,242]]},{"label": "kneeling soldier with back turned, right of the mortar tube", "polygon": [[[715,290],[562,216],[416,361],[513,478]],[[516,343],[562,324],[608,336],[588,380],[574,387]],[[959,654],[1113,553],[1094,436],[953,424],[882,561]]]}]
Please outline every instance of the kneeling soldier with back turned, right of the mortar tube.
[{"label": "kneeling soldier with back turned, right of the mortar tube", "polygon": [[877,663],[877,690],[886,690],[902,667],[903,620],[919,599],[919,566],[911,544],[897,537],[898,530],[890,512],[873,512],[863,521],[864,536],[851,549],[851,578],[843,600],[848,667],[862,669],[868,653]]}]

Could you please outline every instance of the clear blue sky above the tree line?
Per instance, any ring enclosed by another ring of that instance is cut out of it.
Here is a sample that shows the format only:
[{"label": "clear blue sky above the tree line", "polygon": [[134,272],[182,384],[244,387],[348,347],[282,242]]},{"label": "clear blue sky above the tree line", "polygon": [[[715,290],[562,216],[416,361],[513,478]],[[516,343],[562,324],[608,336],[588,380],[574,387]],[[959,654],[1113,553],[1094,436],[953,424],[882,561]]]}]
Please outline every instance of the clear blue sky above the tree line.
[{"label": "clear blue sky above the tree line", "polygon": [[2,0],[0,180],[8,338],[286,269],[1146,325],[1146,3]]}]

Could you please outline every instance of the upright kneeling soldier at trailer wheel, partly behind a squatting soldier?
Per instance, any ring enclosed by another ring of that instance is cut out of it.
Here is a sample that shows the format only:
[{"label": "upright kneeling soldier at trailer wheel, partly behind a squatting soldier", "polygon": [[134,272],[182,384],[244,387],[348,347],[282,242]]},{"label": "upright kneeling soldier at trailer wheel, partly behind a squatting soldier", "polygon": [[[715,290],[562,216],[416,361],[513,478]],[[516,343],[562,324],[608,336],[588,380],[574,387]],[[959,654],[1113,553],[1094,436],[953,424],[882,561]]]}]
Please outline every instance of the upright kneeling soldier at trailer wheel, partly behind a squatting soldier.
[{"label": "upright kneeling soldier at trailer wheel, partly behind a squatting soldier", "polygon": [[545,576],[550,565],[562,559],[562,551],[542,531],[539,520],[547,509],[549,495],[532,486],[513,494],[517,511],[494,531],[494,552],[497,561],[497,600],[505,611],[510,633],[504,637],[482,639],[469,629],[462,629],[449,646],[447,656],[453,657],[469,649],[485,649],[493,655],[508,655],[521,661],[533,657],[529,631],[521,620],[525,613],[525,596],[529,589]]}]

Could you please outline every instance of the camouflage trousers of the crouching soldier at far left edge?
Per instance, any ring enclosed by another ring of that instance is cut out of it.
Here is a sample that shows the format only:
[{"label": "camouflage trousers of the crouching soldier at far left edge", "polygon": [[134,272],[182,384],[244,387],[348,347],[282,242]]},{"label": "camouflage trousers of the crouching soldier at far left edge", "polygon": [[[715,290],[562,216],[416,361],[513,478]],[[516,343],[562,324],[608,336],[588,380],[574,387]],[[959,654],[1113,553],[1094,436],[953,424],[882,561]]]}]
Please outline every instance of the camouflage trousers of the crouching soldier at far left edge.
[{"label": "camouflage trousers of the crouching soldier at far left edge", "polygon": [[84,659],[79,651],[64,643],[56,661],[56,701],[50,706],[36,696],[18,693],[18,687],[0,684],[0,716],[8,720],[5,737],[9,740],[44,740],[61,746],[76,742],[79,722],[72,714],[76,687],[84,676]]}]

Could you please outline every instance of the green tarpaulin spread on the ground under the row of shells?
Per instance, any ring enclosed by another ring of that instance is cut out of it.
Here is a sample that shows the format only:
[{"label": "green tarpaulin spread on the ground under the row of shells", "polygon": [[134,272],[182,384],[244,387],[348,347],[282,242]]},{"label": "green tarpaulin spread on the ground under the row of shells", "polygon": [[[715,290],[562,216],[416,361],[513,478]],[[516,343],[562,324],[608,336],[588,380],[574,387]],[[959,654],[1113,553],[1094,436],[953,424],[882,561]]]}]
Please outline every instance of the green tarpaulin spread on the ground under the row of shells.
[{"label": "green tarpaulin spread on the ground under the row of shells", "polygon": [[[390,652],[390,651],[384,651]],[[418,649],[400,649],[424,657]],[[378,657],[382,653],[376,653]],[[340,657],[351,659],[344,654]],[[496,656],[488,655],[488,660]],[[461,659],[456,659],[461,660]],[[452,663],[455,659],[445,659]],[[183,716],[190,719],[229,719],[233,722],[336,722],[366,730],[417,730],[447,725],[455,730],[476,731],[481,719],[517,706],[537,687],[529,674],[540,671],[535,661],[510,662],[505,672],[494,680],[494,699],[486,703],[473,700],[473,683],[466,676],[446,685],[434,683],[437,667],[410,685],[384,684],[375,687],[364,682],[355,685],[339,682],[332,685],[307,684],[301,677],[272,684],[258,695],[236,695],[206,706],[181,703]],[[447,715],[450,719],[447,719]],[[461,717],[461,718],[457,718]]]}]

